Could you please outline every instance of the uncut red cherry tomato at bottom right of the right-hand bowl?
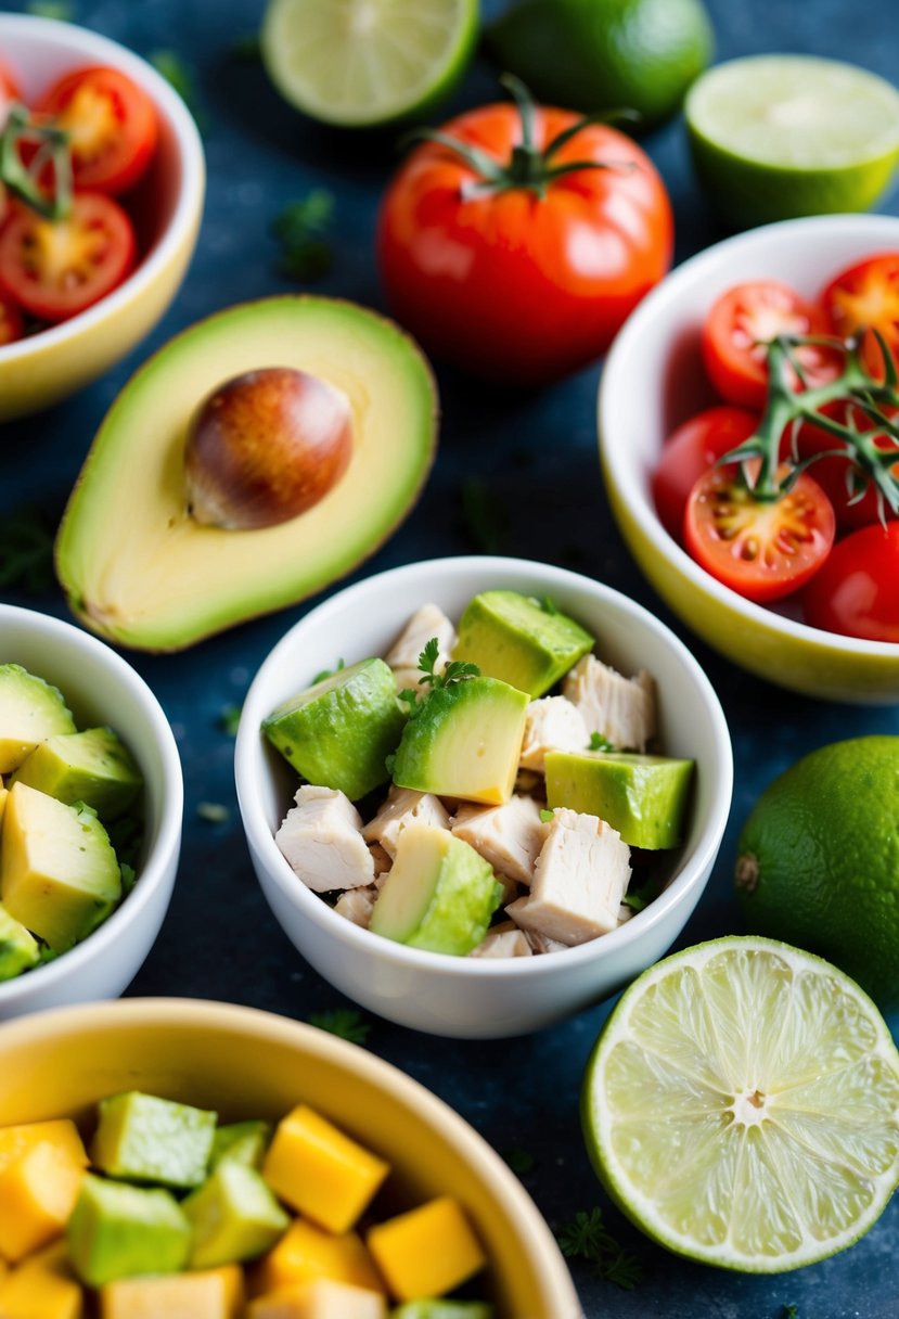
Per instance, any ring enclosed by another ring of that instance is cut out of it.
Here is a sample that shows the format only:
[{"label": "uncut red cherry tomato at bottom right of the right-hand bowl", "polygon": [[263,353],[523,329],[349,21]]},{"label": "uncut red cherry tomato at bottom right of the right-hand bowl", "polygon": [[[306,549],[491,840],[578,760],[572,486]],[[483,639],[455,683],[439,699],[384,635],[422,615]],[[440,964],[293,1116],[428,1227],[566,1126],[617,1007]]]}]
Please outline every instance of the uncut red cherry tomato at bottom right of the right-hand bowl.
[{"label": "uncut red cherry tomato at bottom right of the right-hand bowl", "polygon": [[838,541],[805,587],[803,612],[825,632],[899,644],[899,522]]}]

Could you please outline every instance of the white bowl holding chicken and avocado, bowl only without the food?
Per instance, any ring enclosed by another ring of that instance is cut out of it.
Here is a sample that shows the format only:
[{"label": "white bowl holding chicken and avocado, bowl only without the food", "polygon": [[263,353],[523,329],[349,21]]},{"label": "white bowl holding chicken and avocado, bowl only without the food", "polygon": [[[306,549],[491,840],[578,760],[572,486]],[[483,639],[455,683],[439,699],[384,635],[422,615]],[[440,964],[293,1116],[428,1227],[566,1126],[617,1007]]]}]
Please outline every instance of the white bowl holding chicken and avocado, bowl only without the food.
[{"label": "white bowl holding chicken and avocado, bowl only without the food", "polygon": [[[624,926],[566,952],[508,962],[407,948],[337,915],[307,889],[274,843],[297,776],[260,732],[262,719],[343,657],[382,656],[426,601],[457,620],[478,591],[550,595],[600,637],[604,658],[658,681],[668,754],[697,761],[689,828],[664,892]],[[241,714],[237,798],[250,857],[272,910],[303,956],[382,1017],[438,1035],[490,1038],[536,1030],[597,1002],[655,962],[684,927],[709,877],[730,806],[728,725],[682,642],[641,605],[575,572],[525,559],[434,559],[351,586],[312,609],[262,663]]]}]

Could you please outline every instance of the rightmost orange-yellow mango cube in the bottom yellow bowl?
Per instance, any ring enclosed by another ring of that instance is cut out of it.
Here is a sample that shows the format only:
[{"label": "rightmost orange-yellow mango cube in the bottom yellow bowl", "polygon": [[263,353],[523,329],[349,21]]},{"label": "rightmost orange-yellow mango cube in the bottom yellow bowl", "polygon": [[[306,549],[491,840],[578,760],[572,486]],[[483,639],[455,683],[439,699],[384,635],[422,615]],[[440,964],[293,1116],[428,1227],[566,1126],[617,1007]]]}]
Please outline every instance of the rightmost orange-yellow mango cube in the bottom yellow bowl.
[{"label": "rightmost orange-yellow mango cube in the bottom yellow bowl", "polygon": [[365,1240],[397,1301],[443,1297],[486,1264],[461,1206],[448,1195],[378,1223]]}]

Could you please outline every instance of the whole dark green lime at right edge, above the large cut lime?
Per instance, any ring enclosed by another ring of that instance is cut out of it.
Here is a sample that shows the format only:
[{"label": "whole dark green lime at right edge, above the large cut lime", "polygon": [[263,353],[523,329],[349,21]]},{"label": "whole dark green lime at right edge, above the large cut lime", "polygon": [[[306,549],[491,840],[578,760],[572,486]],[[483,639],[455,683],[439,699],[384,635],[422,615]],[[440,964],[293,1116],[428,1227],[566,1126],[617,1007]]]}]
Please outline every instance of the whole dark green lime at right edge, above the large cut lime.
[{"label": "whole dark green lime at right edge, above the large cut lime", "polygon": [[750,930],[899,1004],[899,737],[832,743],[780,774],[740,835],[736,885]]}]

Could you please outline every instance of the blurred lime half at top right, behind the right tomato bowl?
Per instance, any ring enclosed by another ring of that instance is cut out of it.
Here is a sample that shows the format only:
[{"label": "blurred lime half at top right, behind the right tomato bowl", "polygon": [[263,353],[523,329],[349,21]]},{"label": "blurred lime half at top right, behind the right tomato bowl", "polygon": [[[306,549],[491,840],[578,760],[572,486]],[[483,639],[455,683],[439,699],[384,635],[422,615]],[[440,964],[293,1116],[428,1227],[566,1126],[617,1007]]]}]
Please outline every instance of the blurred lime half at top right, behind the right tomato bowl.
[{"label": "blurred lime half at top right, behind the right tomato bowl", "polygon": [[899,92],[836,59],[732,59],[693,83],[684,113],[700,179],[742,227],[865,211],[899,161]]}]

